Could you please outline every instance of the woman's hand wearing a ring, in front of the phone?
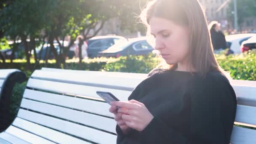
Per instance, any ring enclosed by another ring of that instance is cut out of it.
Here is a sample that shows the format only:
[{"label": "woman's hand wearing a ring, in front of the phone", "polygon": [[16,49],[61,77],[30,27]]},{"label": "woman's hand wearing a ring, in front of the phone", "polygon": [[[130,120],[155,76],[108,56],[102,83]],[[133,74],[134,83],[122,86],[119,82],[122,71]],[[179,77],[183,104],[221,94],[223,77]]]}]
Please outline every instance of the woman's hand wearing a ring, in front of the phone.
[{"label": "woman's hand wearing a ring, in front of the phone", "polygon": [[117,112],[123,113],[121,117],[125,124],[137,131],[143,131],[154,118],[147,107],[136,100],[112,101],[111,104],[120,107]]}]

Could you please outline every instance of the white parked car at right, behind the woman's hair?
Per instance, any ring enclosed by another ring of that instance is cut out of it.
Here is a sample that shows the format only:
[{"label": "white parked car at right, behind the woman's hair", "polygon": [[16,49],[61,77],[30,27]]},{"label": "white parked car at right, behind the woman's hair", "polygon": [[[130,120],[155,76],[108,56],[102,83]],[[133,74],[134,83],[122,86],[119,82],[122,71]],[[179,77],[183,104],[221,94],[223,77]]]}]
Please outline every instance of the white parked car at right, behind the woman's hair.
[{"label": "white parked car at right, behind the woman's hair", "polygon": [[226,41],[227,41],[227,47],[234,51],[234,54],[240,54],[241,50],[241,44],[248,40],[249,38],[256,36],[256,34],[236,34],[236,35],[227,35]]}]

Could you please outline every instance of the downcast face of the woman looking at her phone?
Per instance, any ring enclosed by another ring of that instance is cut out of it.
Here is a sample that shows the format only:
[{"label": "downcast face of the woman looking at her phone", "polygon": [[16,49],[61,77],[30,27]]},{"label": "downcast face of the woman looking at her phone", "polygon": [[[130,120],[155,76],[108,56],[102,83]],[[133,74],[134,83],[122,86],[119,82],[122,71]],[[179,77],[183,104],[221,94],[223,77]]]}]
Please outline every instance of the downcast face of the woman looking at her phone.
[{"label": "downcast face of the woman looking at her phone", "polygon": [[168,19],[152,17],[149,20],[151,34],[155,37],[155,49],[167,64],[187,67],[189,53],[189,29]]}]

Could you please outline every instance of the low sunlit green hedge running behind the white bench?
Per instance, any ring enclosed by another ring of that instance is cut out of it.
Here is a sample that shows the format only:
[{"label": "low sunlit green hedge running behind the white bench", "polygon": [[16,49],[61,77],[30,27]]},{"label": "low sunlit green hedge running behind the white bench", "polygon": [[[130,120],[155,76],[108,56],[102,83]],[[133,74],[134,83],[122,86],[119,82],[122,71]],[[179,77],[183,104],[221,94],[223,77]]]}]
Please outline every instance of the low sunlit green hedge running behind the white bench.
[{"label": "low sunlit green hedge running behind the white bench", "polygon": [[[216,55],[219,65],[230,72],[235,80],[256,80],[256,53],[249,52],[237,56]],[[111,72],[133,72],[148,73],[159,64],[160,60],[153,55],[147,56],[121,56],[120,58],[96,58],[85,59],[80,70],[91,71],[111,71]],[[33,61],[32,61],[33,63]],[[66,69],[79,69],[76,59],[67,60]],[[34,66],[34,64],[32,64]],[[49,61],[47,65],[41,61],[37,69],[42,67],[56,68],[55,60]],[[25,60],[16,60],[13,65],[8,64],[8,68],[21,69],[27,76],[31,71],[26,69]]]}]

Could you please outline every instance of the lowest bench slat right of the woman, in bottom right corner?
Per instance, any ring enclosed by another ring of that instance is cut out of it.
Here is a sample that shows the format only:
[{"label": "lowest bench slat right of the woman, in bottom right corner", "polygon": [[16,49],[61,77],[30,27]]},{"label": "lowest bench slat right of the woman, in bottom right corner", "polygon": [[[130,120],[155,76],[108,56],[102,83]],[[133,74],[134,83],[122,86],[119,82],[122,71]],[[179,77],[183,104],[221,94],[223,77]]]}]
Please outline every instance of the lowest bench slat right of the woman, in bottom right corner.
[{"label": "lowest bench slat right of the woman, in bottom right corner", "polygon": [[256,144],[256,130],[234,126],[231,144]]}]

